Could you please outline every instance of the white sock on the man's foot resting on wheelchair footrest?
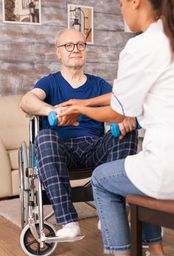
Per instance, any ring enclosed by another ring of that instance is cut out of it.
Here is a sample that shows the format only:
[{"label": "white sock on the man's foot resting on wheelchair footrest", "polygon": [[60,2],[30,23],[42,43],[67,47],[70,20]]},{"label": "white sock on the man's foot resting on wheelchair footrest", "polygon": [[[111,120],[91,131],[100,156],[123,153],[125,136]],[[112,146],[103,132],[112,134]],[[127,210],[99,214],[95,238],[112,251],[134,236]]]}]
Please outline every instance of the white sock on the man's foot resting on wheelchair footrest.
[{"label": "white sock on the man's foot resting on wheelchair footrest", "polygon": [[56,232],[56,236],[60,238],[75,238],[81,236],[78,222],[69,222],[63,225],[63,228]]}]

